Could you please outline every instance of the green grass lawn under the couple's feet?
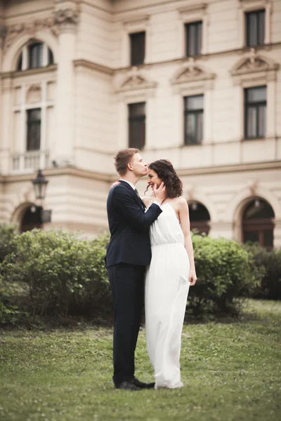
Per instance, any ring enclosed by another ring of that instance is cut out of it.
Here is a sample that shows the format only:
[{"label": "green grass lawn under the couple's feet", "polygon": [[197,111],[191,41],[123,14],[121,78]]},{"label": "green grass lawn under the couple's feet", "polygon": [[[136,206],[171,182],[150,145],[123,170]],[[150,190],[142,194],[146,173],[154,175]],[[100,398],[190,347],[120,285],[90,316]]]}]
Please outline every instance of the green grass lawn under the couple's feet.
[{"label": "green grass lawn under the couple's feet", "polygon": [[[112,330],[2,330],[0,420],[281,420],[281,303],[240,321],[185,325],[183,389],[112,385]],[[141,330],[136,377],[152,380]]]}]

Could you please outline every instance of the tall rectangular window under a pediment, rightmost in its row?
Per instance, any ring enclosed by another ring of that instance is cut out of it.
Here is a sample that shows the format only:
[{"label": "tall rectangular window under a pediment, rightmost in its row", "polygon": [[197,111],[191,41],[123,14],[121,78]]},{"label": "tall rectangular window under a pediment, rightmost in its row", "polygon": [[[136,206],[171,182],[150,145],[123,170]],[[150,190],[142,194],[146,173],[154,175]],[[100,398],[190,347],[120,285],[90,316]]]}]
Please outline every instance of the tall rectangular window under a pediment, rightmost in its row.
[{"label": "tall rectangular window under a pediment, rightmost in its row", "polygon": [[264,138],[266,135],[266,86],[244,90],[244,138]]}]

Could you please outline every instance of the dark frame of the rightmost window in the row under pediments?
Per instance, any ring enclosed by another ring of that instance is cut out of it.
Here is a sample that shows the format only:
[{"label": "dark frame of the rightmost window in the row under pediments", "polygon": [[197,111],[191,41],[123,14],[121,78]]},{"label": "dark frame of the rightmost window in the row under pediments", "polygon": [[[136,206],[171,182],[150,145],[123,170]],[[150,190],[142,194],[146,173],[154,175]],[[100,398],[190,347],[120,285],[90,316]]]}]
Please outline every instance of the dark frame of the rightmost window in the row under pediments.
[{"label": "dark frame of the rightmost window in the row under pediments", "polygon": [[[260,100],[260,101],[249,101],[247,99],[247,95],[249,93],[249,91],[254,90],[254,89],[261,89],[261,88],[266,88],[266,100]],[[265,116],[267,115],[267,86],[266,85],[262,85],[262,86],[251,86],[249,88],[244,88],[244,140],[254,140],[254,139],[264,139],[266,138],[266,126],[264,128],[264,134],[261,135],[260,131],[259,131],[259,118],[256,118],[256,135],[255,136],[248,136],[248,112],[249,112],[249,107],[256,109],[256,113],[259,114],[259,108],[260,107],[266,107],[265,110]]]}]

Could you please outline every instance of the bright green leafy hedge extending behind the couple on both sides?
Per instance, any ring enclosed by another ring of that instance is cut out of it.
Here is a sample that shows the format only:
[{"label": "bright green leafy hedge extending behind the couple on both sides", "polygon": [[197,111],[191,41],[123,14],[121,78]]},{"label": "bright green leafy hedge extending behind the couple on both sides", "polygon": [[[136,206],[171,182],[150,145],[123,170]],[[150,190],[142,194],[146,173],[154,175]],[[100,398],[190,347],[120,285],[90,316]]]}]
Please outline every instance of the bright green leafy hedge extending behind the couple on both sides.
[{"label": "bright green leafy hedge extending behind the couple on both sides", "polygon": [[[18,235],[0,227],[6,236],[0,241],[1,323],[42,316],[111,319],[104,264],[108,234],[89,241],[71,232],[34,229]],[[236,241],[196,234],[192,239],[198,282],[190,288],[187,312],[238,314],[237,298],[261,283],[254,254]]]}]

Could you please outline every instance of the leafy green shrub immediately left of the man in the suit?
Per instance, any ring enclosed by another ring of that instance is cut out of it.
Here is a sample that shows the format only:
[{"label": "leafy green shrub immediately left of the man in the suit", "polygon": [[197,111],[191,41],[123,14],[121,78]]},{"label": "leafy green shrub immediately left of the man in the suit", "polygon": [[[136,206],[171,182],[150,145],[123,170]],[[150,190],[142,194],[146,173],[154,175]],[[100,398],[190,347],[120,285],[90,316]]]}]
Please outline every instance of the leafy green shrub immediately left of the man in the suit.
[{"label": "leafy green shrub immediately left of the man in the suit", "polygon": [[106,244],[106,236],[87,241],[70,232],[25,232],[1,264],[2,281],[21,290],[32,316],[103,312],[105,303],[110,309]]}]

